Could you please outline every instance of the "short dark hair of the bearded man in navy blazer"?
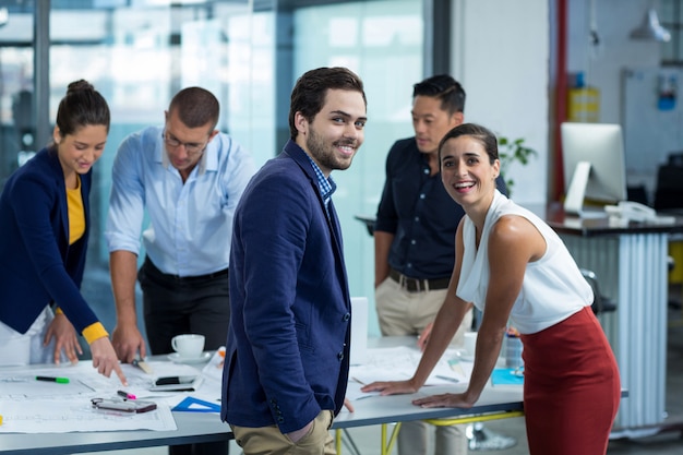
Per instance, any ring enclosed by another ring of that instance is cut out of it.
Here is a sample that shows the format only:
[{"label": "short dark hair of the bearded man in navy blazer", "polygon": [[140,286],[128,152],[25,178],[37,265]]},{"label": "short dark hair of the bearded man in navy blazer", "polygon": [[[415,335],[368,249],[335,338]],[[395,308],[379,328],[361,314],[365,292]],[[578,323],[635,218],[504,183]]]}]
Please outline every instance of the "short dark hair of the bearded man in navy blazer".
[{"label": "short dark hair of the bearded man in navy blazer", "polygon": [[339,67],[310,70],[297,80],[297,84],[291,91],[289,134],[292,140],[297,139],[298,133],[295,125],[295,115],[301,112],[309,122],[312,122],[323,108],[328,89],[359,92],[363,96],[366,107],[368,106],[363,82],[351,70]]}]

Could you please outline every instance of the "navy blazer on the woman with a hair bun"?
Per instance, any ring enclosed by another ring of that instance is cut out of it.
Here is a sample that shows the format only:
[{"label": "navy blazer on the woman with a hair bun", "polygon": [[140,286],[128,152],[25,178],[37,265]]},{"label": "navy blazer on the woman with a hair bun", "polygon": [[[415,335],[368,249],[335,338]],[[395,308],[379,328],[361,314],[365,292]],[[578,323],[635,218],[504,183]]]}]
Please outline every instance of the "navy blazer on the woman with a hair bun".
[{"label": "navy blazer on the woman with a hair bun", "polygon": [[26,333],[51,301],[79,333],[97,322],[80,292],[89,226],[92,170],[81,176],[85,234],[69,246],[64,172],[44,148],[19,168],[0,194],[0,321]]}]

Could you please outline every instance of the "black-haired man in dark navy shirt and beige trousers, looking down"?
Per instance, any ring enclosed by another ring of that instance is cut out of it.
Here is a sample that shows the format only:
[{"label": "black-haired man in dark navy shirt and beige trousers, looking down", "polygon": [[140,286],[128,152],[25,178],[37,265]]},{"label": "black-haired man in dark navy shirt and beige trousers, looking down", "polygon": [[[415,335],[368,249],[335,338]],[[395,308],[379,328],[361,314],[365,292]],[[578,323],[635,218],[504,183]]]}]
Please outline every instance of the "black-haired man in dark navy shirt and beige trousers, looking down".
[{"label": "black-haired man in dark navy shirt and beige trousers, looking down", "polygon": [[[465,214],[446,193],[439,171],[439,143],[463,123],[464,109],[465,91],[450,75],[415,84],[415,136],[394,143],[386,158],[386,182],[374,226],[380,330],[383,335],[420,335],[420,347],[446,297],[455,262],[455,231]],[[498,187],[506,193],[501,177]],[[454,345],[463,345],[471,322],[470,311]],[[399,455],[426,454],[427,429],[424,422],[404,422]],[[435,455],[467,451],[463,426],[436,428]]]}]

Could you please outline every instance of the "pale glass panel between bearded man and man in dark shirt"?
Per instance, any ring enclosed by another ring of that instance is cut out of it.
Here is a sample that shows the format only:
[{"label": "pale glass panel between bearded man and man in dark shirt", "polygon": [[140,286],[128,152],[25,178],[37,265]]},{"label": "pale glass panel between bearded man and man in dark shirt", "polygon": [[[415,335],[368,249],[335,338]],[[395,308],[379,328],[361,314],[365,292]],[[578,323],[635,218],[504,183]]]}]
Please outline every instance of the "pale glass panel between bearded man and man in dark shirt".
[{"label": "pale glass panel between bearded man and man in dark shirt", "polygon": [[[422,4],[359,1],[302,8],[293,13],[292,77],[316,67],[348,67],[368,97],[366,140],[345,171],[334,171],[334,195],[344,232],[352,296],[368,297],[371,335],[380,335],[374,310],[374,243],[354,217],[376,213],[392,144],[412,135],[412,84],[422,80]],[[310,24],[316,24],[311,27]]]}]

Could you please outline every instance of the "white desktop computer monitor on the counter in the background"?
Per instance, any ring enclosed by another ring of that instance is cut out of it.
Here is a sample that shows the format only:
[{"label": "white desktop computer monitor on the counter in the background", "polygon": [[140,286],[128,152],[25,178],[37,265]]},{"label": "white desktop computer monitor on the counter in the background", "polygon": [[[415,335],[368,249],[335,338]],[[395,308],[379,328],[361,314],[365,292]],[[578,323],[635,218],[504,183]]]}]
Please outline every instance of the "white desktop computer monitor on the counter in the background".
[{"label": "white desktop computer monitor on the counter in the background", "polygon": [[626,200],[624,142],[619,124],[562,123],[564,211],[584,216],[584,201]]}]

